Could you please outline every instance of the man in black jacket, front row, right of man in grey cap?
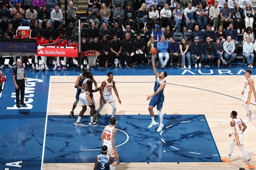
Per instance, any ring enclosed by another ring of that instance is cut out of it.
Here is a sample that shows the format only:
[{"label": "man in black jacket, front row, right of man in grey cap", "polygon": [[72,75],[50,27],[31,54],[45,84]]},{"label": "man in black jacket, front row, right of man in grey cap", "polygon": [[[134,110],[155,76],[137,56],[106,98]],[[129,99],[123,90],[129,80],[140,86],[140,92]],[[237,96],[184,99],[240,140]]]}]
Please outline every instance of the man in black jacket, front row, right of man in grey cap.
[{"label": "man in black jacket, front row, right of man in grey cap", "polygon": [[211,42],[211,37],[206,38],[206,42],[203,44],[204,47],[204,67],[210,67],[210,61],[214,60],[214,45]]}]

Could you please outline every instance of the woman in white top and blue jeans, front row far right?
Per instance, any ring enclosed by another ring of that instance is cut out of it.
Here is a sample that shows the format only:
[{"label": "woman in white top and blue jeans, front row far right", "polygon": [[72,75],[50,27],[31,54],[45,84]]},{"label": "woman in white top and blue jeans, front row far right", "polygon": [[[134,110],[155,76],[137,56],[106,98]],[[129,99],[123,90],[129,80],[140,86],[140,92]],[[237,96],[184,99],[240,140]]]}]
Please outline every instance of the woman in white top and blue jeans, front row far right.
[{"label": "woman in white top and blue jeans, front row far right", "polygon": [[248,67],[253,68],[253,59],[254,59],[254,54],[253,54],[253,44],[251,42],[251,37],[246,37],[246,42],[243,45],[243,55],[247,60]]}]

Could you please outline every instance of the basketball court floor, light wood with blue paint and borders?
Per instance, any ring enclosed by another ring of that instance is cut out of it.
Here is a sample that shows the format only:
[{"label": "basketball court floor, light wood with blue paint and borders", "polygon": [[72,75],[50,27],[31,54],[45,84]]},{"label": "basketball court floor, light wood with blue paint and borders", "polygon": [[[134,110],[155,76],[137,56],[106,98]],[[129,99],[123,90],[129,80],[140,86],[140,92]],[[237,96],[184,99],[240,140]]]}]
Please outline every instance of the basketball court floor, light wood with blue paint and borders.
[{"label": "basketball court floor, light wood with blue paint and borders", "polygon": [[[147,128],[151,119],[146,97],[153,93],[153,70],[148,66],[122,70],[95,67],[92,73],[98,87],[109,71],[114,72],[122,101],[121,105],[116,102],[116,145],[120,157],[116,169],[246,168],[248,162],[237,146],[229,164],[221,162],[220,157],[228,155],[233,140],[228,137],[230,112],[236,110],[238,117],[245,118],[241,91],[247,68],[165,69],[168,76],[162,109],[164,128],[156,132],[158,125]],[[27,108],[23,109],[15,108],[12,70],[3,70],[7,81],[0,94],[1,169],[93,169],[94,157],[100,154],[100,135],[109,124],[112,107],[109,104],[103,107],[101,118],[94,126],[88,126],[87,109],[81,120],[85,125],[75,127],[81,107],[75,109],[76,118],[70,119],[68,115],[75,100],[75,81],[81,72],[74,67],[60,72],[51,69],[35,73],[26,68]],[[98,108],[100,94],[95,92],[94,98]],[[255,113],[254,96],[251,102],[250,109]],[[156,108],[154,112],[159,122]],[[254,163],[256,119],[246,125],[244,147]]]}]

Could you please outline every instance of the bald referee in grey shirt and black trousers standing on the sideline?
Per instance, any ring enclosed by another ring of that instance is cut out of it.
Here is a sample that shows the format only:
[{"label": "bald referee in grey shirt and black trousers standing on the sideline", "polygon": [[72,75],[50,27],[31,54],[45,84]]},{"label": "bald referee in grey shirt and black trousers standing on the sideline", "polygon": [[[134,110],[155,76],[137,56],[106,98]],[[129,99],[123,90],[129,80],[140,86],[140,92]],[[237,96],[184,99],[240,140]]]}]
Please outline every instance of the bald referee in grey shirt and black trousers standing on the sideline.
[{"label": "bald referee in grey shirt and black trousers standing on the sideline", "polygon": [[24,94],[25,94],[25,80],[26,85],[28,85],[28,80],[26,78],[24,67],[20,60],[17,61],[17,67],[13,70],[12,79],[15,84],[15,93],[16,93],[16,107],[20,108],[20,105],[26,106],[24,103]]}]

